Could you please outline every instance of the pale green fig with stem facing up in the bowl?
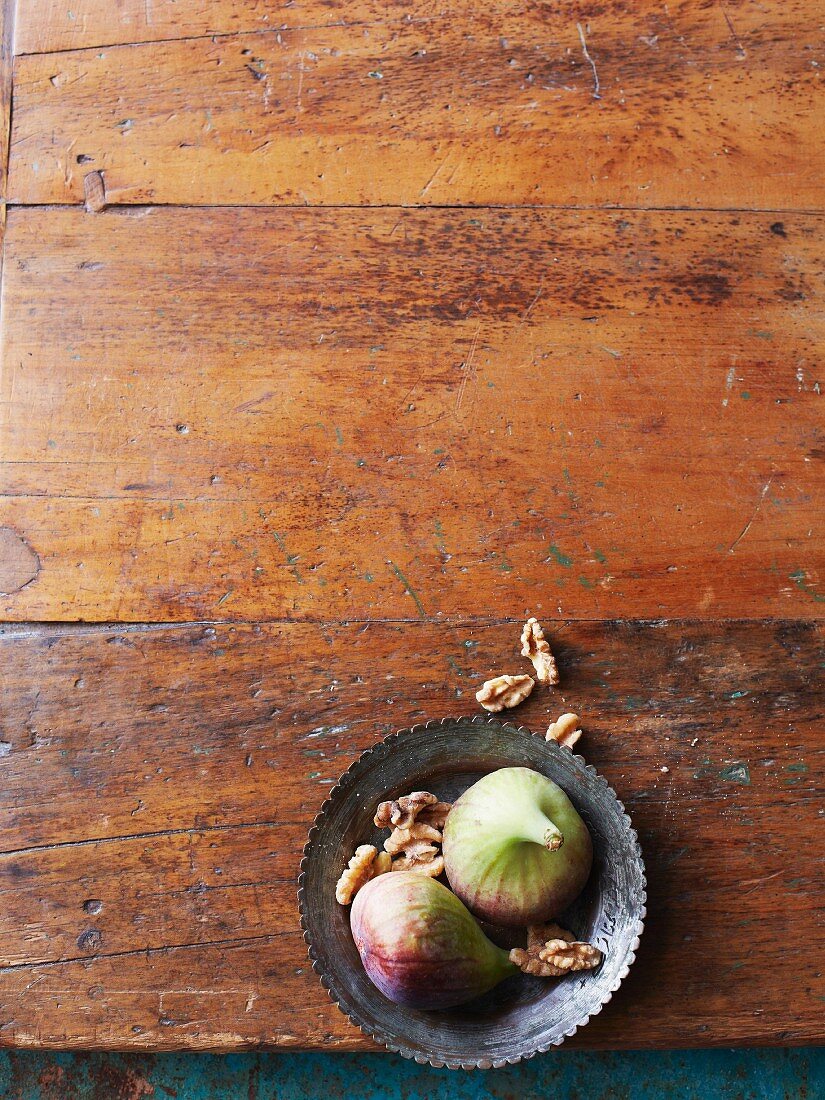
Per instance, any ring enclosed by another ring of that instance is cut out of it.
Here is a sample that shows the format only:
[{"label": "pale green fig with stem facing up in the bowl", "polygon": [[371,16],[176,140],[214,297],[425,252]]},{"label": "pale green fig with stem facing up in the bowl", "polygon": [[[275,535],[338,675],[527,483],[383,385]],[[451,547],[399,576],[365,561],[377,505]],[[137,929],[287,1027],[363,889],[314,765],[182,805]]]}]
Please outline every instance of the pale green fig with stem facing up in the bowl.
[{"label": "pale green fig with stem facing up in the bowl", "polygon": [[525,926],[558,916],[579,897],[593,843],[552,780],[529,768],[502,768],[453,804],[443,857],[450,886],[477,917]]}]

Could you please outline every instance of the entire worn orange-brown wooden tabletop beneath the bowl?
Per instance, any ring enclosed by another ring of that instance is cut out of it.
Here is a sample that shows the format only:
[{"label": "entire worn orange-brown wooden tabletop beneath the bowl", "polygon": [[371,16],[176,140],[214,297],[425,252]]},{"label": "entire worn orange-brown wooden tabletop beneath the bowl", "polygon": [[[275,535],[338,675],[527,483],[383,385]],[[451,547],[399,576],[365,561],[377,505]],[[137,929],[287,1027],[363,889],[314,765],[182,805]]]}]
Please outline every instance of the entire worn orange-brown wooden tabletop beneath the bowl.
[{"label": "entire worn orange-brown wooden tabletop beneath the bowl", "polygon": [[370,1048],[307,828],[530,613],[650,877],[575,1044],[821,1041],[822,11],[14,7],[0,1042]]}]

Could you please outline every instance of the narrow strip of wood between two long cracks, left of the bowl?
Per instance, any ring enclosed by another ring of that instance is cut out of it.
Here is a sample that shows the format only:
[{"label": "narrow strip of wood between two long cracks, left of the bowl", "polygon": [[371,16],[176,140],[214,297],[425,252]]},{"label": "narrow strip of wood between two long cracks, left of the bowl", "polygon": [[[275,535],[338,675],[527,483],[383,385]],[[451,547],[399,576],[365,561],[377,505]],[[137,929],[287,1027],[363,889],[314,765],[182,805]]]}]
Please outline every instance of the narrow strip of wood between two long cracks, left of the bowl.
[{"label": "narrow strip of wood between two long cracks, left of the bowl", "polygon": [[0,855],[0,966],[294,930],[306,836],[306,825],[230,824]]}]

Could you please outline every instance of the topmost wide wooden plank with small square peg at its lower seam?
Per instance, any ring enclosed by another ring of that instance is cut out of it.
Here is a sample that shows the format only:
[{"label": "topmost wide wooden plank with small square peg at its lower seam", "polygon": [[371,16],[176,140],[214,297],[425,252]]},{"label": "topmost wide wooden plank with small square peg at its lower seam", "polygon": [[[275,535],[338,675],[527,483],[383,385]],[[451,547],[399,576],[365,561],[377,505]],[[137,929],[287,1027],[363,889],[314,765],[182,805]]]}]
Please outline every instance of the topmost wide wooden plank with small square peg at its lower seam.
[{"label": "topmost wide wooden plank with small square peg at its lower seam", "polygon": [[[31,7],[42,45],[64,10]],[[822,209],[822,63],[803,0],[389,4],[22,56],[10,194],[80,202],[99,170],[123,204]]]}]

